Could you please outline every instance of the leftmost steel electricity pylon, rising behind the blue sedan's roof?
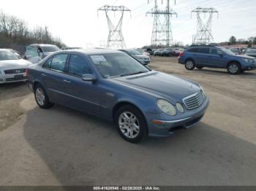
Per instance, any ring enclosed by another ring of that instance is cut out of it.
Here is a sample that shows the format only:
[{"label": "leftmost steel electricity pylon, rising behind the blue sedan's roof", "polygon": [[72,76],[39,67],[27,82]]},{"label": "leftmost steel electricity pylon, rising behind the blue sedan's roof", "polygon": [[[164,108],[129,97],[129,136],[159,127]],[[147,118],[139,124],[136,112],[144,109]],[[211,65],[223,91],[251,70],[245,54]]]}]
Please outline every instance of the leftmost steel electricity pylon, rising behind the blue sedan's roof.
[{"label": "leftmost steel electricity pylon, rising behind the blue sedan's roof", "polygon": [[[107,42],[107,49],[119,49],[119,48],[126,48],[124,43],[124,36],[122,34],[121,28],[123,23],[123,17],[124,12],[131,12],[130,9],[124,6],[109,6],[105,5],[103,7],[100,7],[98,9],[99,11],[105,11],[105,15],[108,20],[108,42]],[[116,15],[116,12],[121,12],[120,19],[116,26],[113,25],[112,21],[110,20],[110,17],[108,15],[108,12],[114,12]]]}]

